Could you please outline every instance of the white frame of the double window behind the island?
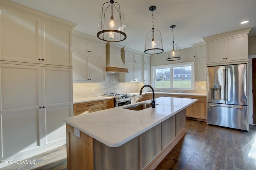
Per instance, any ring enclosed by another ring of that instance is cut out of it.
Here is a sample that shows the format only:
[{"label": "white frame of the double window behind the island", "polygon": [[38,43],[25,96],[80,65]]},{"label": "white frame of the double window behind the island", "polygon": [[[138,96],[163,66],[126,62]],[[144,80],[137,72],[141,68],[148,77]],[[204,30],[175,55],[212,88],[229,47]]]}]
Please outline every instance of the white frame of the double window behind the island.
[{"label": "white frame of the double window behind the island", "polygon": [[[191,66],[191,88],[189,89],[184,89],[184,88],[173,88],[173,78],[178,78],[178,76],[174,77],[173,76],[173,68],[174,67],[186,67],[186,66]],[[170,88],[156,88],[156,69],[165,69],[165,68],[170,68]],[[156,65],[151,67],[151,80],[152,80],[152,87],[154,89],[168,89],[168,90],[194,90],[195,87],[195,76],[194,76],[194,61],[191,62],[186,62],[186,63],[175,63],[175,64],[167,64],[167,65]]]}]

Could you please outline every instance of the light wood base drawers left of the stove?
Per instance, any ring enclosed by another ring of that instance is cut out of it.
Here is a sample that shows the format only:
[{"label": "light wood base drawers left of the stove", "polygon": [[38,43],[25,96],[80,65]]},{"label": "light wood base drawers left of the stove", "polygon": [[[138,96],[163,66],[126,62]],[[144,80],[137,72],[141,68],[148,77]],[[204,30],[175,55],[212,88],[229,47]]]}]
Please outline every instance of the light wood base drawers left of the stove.
[{"label": "light wood base drawers left of the stove", "polygon": [[114,107],[114,98],[107,100],[90,101],[83,103],[75,103],[73,107],[73,115],[82,115],[86,113],[92,113],[101,111],[104,109],[110,109]]}]

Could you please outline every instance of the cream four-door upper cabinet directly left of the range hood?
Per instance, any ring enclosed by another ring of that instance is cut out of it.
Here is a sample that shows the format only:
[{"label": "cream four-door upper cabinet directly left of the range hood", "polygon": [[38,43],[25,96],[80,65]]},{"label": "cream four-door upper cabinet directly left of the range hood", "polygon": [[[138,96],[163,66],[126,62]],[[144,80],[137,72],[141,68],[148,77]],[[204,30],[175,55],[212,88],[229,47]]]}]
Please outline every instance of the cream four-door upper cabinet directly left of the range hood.
[{"label": "cream four-door upper cabinet directly left of the range hood", "polygon": [[106,43],[89,38],[82,32],[73,33],[73,82],[102,82],[106,79]]}]

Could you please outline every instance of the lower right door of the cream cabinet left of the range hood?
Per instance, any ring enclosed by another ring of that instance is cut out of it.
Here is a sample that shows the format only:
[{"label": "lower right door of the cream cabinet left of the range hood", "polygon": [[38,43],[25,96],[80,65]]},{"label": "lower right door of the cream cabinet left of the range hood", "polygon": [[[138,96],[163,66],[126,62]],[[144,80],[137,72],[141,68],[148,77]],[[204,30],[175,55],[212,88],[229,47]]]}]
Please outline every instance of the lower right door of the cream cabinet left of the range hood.
[{"label": "lower right door of the cream cabinet left of the range hood", "polygon": [[106,77],[106,58],[90,55],[90,80],[104,81]]}]

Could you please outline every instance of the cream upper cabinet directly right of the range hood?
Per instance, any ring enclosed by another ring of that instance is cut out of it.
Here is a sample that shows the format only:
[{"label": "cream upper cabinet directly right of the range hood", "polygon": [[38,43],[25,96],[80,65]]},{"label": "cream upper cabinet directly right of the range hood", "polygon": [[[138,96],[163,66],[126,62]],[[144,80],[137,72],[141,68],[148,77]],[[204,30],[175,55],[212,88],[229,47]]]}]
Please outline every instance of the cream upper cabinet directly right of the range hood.
[{"label": "cream upper cabinet directly right of the range hood", "polygon": [[122,47],[121,57],[129,73],[120,73],[120,82],[143,82],[142,52]]}]

